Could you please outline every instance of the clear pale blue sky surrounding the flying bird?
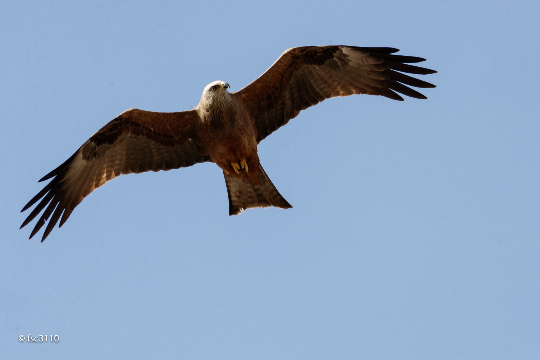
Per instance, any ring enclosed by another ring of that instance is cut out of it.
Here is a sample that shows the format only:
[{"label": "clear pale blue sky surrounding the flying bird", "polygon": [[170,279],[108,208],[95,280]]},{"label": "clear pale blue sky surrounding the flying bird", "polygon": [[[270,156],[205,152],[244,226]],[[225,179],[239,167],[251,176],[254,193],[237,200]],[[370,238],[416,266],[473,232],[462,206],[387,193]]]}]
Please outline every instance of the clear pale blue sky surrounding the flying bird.
[{"label": "clear pale blue sky surrounding the flying bird", "polygon": [[[1,2],[0,358],[538,359],[539,10]],[[43,243],[18,229],[120,112],[188,110],[328,44],[427,58],[437,88],[327,100],[262,141],[293,209],[228,216],[206,163],[120,176]]]}]

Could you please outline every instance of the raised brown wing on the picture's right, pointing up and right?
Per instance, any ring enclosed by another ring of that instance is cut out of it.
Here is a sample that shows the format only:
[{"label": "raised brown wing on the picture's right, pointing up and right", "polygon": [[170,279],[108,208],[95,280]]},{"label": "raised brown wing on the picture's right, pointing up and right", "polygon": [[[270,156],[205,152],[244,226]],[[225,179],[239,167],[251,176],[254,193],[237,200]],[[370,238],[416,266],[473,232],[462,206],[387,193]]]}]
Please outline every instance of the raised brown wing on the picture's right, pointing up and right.
[{"label": "raised brown wing on the picture's right, pointing up and right", "polygon": [[255,119],[257,143],[287,124],[301,110],[328,98],[369,94],[403,100],[397,91],[426,99],[406,85],[435,85],[401,72],[432,74],[436,71],[406,64],[426,59],[392,55],[397,51],[392,47],[293,47],[257,80],[234,94]]}]

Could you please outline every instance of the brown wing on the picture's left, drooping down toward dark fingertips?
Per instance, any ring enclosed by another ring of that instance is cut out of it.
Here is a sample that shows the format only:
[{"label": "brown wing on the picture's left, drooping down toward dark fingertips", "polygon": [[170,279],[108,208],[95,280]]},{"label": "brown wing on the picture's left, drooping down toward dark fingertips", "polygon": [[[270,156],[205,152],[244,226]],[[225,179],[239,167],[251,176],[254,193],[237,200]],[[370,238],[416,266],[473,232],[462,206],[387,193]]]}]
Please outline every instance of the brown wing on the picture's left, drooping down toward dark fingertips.
[{"label": "brown wing on the picture's left, drooping down toward dark fingertips", "polygon": [[211,161],[199,152],[196,127],[197,111],[171,113],[130,109],[102,127],[71,157],[39,181],[53,178],[21,210],[32,210],[27,225],[45,209],[30,234],[30,239],[51,216],[42,240],[55,227],[60,215],[61,227],[86,195],[120,174],[170,170],[198,162]]}]

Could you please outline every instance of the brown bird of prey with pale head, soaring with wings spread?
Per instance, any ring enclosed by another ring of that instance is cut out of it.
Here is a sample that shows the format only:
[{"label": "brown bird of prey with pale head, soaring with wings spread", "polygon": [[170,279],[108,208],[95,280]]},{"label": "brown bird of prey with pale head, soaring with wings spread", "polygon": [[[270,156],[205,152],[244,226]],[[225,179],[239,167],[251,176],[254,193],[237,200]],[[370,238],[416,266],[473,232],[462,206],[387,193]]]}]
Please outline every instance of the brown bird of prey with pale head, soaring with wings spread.
[{"label": "brown bird of prey with pale head, soaring with wings spread", "polygon": [[228,92],[225,81],[208,84],[192,110],[126,110],[39,180],[52,178],[21,210],[41,200],[21,228],[45,209],[29,237],[49,220],[43,241],[58,220],[61,227],[88,194],[119,175],[205,161],[223,171],[229,215],[255,207],[291,208],[260,164],[259,142],[300,111],[328,98],[369,94],[403,100],[397,94],[401,93],[426,99],[407,85],[435,85],[404,73],[436,71],[409,65],[426,59],[394,55],[397,51],[393,47],[293,47],[240,91]]}]

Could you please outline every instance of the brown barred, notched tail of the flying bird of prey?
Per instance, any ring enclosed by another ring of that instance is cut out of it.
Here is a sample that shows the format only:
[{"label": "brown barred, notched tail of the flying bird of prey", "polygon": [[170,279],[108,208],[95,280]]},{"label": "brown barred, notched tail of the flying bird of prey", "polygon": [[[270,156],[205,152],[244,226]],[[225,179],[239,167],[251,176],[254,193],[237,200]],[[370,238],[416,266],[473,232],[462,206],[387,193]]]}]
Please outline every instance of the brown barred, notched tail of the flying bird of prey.
[{"label": "brown barred, notched tail of the flying bird of prey", "polygon": [[223,175],[229,196],[229,215],[238,215],[242,210],[255,207],[292,208],[272,184],[261,165],[259,165],[259,185],[253,185],[247,179],[235,178],[225,172]]}]

